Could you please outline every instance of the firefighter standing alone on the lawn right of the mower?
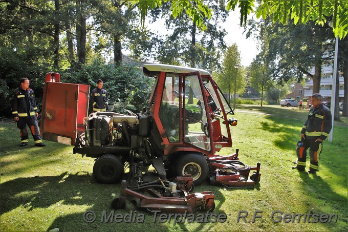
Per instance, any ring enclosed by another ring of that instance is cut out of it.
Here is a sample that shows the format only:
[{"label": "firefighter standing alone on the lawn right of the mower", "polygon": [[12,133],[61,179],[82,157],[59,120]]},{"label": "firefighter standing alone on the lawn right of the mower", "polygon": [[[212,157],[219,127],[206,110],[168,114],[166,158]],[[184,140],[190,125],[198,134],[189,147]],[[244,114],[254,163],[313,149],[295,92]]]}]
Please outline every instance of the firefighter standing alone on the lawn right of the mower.
[{"label": "firefighter standing alone on the lawn right of the mower", "polygon": [[298,142],[297,168],[305,170],[306,156],[309,148],[310,166],[308,174],[313,174],[318,170],[318,160],[322,151],[322,141],[325,140],[332,129],[332,115],[330,109],[321,103],[321,95],[316,93],[312,95],[312,108],[309,111],[308,118],[301,130],[301,141]]}]

